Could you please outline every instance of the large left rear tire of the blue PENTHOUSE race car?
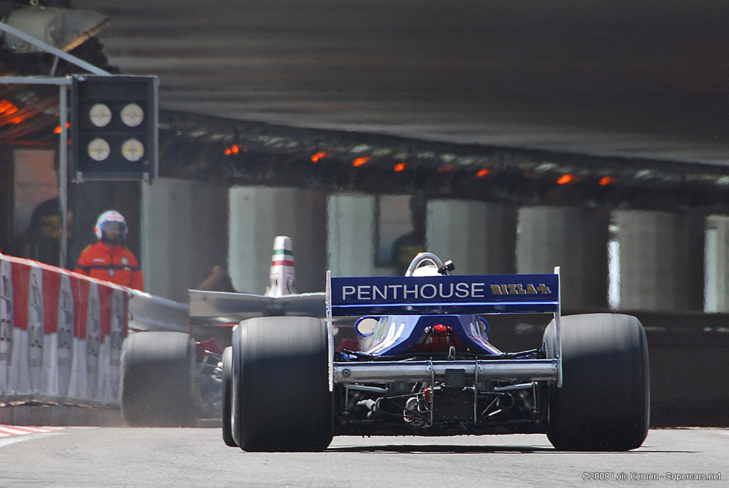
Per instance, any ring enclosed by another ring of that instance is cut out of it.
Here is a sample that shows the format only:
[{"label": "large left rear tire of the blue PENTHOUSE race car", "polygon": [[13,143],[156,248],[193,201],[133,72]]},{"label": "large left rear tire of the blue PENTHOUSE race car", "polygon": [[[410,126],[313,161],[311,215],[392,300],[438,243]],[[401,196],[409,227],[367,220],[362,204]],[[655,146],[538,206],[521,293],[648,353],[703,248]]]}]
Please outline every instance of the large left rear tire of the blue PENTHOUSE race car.
[{"label": "large left rear tire of the blue PENTHOUSE race car", "polygon": [[323,320],[243,320],[233,338],[233,437],[244,451],[321,451],[332,441]]}]

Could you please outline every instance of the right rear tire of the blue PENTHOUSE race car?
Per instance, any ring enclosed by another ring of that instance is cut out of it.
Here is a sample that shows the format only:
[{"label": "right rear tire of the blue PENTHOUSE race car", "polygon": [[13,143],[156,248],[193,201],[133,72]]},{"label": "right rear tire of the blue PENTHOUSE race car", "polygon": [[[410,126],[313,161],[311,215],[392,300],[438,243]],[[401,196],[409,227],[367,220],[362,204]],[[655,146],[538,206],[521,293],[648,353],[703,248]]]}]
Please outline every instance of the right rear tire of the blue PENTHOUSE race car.
[{"label": "right rear tire of the blue PENTHOUSE race car", "polygon": [[[555,357],[555,322],[544,334]],[[549,385],[547,437],[563,451],[628,451],[648,433],[650,378],[645,331],[630,315],[561,318],[561,388]]]}]

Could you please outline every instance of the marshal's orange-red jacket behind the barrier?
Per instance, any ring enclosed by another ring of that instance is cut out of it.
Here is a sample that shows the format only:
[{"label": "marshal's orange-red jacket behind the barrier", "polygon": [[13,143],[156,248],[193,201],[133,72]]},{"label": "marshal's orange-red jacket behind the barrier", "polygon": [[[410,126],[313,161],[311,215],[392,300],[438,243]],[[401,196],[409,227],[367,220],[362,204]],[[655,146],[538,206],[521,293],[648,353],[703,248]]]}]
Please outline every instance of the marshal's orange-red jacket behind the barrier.
[{"label": "marshal's orange-red jacket behind the barrier", "polygon": [[76,272],[144,291],[144,277],[141,275],[139,261],[132,251],[121,244],[110,248],[99,240],[88,246],[79,256]]}]

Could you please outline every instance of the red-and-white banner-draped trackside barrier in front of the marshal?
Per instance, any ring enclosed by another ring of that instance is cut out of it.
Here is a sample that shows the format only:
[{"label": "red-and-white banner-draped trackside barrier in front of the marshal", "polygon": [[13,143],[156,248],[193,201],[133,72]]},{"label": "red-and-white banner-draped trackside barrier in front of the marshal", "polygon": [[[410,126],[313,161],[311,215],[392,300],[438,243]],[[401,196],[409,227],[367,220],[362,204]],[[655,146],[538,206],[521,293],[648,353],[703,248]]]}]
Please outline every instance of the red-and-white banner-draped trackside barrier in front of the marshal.
[{"label": "red-and-white banner-draped trackside barrier in front of the marshal", "polygon": [[119,406],[130,323],[187,322],[187,305],[0,254],[0,402]]}]

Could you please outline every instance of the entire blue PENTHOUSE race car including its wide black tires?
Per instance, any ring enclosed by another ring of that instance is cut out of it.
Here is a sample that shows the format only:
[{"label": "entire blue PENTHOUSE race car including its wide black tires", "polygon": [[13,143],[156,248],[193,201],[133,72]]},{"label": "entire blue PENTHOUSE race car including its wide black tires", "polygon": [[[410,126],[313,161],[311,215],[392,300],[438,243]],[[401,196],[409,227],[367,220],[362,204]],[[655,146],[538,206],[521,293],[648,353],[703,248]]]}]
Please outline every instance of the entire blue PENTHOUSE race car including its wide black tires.
[{"label": "entire blue PENTHOUSE race car including its wide black tires", "polygon": [[[546,433],[561,450],[624,451],[648,430],[645,332],[628,315],[561,316],[560,275],[451,275],[421,253],[405,277],[332,278],[327,318],[242,320],[222,356],[223,439],[326,449],[332,436]],[[550,313],[542,347],[504,353],[481,315]],[[358,350],[332,319],[358,316]]]}]

